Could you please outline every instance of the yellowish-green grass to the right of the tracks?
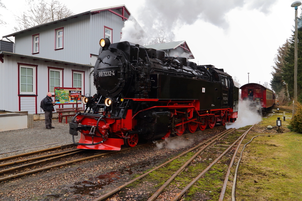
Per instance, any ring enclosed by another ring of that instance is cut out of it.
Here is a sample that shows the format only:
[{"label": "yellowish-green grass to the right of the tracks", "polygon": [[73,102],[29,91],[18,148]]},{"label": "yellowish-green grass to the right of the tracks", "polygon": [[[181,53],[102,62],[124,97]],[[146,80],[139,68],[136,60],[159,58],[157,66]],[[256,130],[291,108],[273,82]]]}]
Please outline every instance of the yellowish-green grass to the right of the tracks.
[{"label": "yellowish-green grass to the right of the tracks", "polygon": [[[266,115],[257,126],[275,126],[277,117],[283,120],[283,114],[273,113]],[[287,118],[287,122],[282,121],[282,125],[285,126],[289,121]],[[250,133],[244,143],[258,134]],[[239,166],[236,200],[302,200],[301,148],[302,135],[295,132],[255,138],[246,146]],[[229,182],[224,199],[226,201],[231,200],[231,185]]]}]

